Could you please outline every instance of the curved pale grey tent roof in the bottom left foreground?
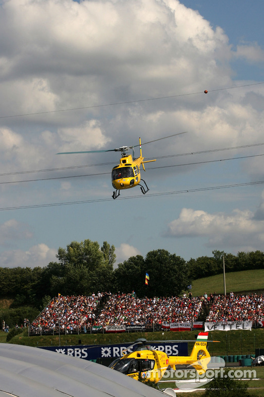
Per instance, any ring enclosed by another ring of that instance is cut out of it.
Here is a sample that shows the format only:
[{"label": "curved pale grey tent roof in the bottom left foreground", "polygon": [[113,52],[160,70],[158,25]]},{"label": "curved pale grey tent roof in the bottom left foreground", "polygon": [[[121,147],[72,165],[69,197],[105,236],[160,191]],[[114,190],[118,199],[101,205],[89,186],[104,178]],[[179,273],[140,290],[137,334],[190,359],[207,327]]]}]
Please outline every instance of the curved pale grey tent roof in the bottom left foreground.
[{"label": "curved pale grey tent roof in the bottom left foreground", "polygon": [[161,397],[117,371],[36,347],[0,343],[0,397]]}]

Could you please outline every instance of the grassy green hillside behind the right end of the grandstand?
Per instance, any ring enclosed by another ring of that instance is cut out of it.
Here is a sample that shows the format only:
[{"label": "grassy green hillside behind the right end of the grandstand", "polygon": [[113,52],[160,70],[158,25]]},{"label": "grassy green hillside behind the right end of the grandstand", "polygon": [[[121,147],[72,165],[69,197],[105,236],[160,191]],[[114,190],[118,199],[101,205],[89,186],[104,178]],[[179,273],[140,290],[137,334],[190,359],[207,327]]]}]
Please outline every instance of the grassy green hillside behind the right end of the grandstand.
[{"label": "grassy green hillside behind the right end of the grandstand", "polygon": [[[239,292],[264,292],[264,269],[244,270],[225,273],[226,293]],[[199,278],[192,282],[193,296],[201,296],[206,292],[224,293],[223,274]]]}]

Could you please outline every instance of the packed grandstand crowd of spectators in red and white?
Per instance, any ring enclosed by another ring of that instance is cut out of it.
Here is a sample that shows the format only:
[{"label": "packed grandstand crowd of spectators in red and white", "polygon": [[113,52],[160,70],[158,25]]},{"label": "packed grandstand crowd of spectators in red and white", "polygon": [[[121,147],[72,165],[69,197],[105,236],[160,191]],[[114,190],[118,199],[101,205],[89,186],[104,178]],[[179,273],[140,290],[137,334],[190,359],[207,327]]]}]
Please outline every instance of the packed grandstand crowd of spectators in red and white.
[{"label": "packed grandstand crowd of spectators in red and white", "polygon": [[[204,321],[241,322],[264,321],[264,294],[227,296],[205,294],[192,297],[138,298],[134,291],[124,293],[98,293],[92,296],[58,296],[30,325],[30,333],[56,332],[81,333],[99,331],[111,326],[135,327],[145,325],[146,329],[166,329],[167,324],[201,324]],[[198,327],[198,326],[197,326]]]}]

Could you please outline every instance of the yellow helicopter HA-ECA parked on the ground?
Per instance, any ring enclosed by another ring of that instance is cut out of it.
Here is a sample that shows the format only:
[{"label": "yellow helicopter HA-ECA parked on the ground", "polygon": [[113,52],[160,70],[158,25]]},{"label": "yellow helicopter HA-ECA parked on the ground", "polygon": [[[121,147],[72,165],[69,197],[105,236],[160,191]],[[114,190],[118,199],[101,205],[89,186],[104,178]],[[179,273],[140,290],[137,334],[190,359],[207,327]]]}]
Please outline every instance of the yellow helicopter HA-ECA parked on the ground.
[{"label": "yellow helicopter HA-ECA parked on the ground", "polygon": [[[164,351],[151,349],[150,343],[153,342],[140,338],[123,350],[124,356],[114,360],[109,367],[136,380],[141,377],[156,383],[169,368],[175,370],[176,365],[187,364],[194,367],[201,375],[206,372],[211,360],[207,350],[207,339],[208,332],[200,332],[190,356],[168,356]],[[135,350],[128,352],[134,346],[136,346]]]}]

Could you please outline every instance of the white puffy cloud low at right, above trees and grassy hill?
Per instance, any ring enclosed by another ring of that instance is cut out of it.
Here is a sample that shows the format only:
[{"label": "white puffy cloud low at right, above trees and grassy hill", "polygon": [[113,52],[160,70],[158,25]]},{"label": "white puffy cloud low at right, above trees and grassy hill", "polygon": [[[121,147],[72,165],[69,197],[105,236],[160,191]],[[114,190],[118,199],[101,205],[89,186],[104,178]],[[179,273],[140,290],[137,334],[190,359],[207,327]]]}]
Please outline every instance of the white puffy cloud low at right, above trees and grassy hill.
[{"label": "white puffy cloud low at right, above trees and grassy hill", "polygon": [[203,210],[183,208],[178,219],[168,224],[166,237],[205,237],[206,246],[215,249],[255,247],[262,249],[264,221],[256,220],[249,210],[234,209],[231,214],[210,214]]}]

